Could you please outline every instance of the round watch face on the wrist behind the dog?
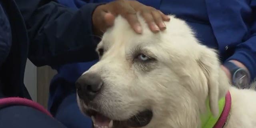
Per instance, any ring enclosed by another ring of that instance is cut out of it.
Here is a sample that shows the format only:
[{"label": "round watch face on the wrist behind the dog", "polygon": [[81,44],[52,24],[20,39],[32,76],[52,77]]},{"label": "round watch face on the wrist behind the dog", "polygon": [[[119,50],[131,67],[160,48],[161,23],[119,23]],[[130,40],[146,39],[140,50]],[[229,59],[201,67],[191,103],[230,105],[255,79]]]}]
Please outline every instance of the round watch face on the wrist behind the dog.
[{"label": "round watch face on the wrist behind the dog", "polygon": [[250,88],[250,76],[244,69],[238,69],[233,75],[233,83],[239,88]]}]

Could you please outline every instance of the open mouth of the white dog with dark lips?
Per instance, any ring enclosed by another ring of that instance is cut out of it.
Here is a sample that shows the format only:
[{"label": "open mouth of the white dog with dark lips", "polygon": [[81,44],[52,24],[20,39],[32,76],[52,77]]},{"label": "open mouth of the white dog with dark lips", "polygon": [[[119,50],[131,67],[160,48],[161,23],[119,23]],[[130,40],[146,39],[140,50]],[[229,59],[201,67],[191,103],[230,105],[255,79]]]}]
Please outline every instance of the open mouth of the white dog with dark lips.
[{"label": "open mouth of the white dog with dark lips", "polygon": [[86,110],[86,114],[92,118],[94,128],[140,128],[148,125],[153,117],[150,110],[139,112],[128,120],[112,120],[95,110]]}]

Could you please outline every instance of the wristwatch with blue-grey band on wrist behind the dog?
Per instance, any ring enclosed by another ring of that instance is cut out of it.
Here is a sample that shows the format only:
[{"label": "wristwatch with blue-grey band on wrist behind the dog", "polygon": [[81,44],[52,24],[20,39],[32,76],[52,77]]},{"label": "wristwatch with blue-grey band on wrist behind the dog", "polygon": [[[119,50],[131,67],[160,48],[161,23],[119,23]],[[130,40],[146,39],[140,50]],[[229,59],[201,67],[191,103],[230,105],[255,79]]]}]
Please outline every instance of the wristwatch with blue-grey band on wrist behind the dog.
[{"label": "wristwatch with blue-grey band on wrist behind the dog", "polygon": [[238,88],[250,88],[250,73],[244,68],[236,66],[233,62],[227,61],[223,64],[231,74],[232,84]]}]

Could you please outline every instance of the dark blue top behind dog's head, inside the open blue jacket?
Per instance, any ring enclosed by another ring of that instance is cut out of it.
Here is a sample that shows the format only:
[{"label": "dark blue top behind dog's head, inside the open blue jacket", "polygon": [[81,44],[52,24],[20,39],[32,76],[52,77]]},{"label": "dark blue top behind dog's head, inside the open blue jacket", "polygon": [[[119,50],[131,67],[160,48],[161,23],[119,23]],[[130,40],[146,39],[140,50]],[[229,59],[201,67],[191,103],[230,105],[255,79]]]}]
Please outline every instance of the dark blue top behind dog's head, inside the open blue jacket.
[{"label": "dark blue top behind dog's head, inside the open blue jacket", "polygon": [[[205,0],[159,0],[159,10],[185,20],[203,44],[218,49]],[[170,21],[171,22],[171,21]],[[188,40],[189,43],[189,40]]]}]

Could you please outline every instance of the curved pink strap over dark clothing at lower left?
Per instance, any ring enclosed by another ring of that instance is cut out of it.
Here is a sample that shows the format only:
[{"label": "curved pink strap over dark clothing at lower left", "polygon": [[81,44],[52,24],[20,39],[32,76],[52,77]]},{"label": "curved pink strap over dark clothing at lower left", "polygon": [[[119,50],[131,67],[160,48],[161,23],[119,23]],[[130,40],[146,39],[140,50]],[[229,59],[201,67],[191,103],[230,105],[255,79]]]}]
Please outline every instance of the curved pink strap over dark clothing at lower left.
[{"label": "curved pink strap over dark clothing at lower left", "polygon": [[48,116],[52,116],[50,112],[48,112],[42,105],[25,98],[18,98],[18,97],[10,97],[10,98],[2,98],[0,99],[0,107],[2,106],[10,106],[10,105],[22,105],[22,106],[28,106],[31,108],[35,108]]}]

